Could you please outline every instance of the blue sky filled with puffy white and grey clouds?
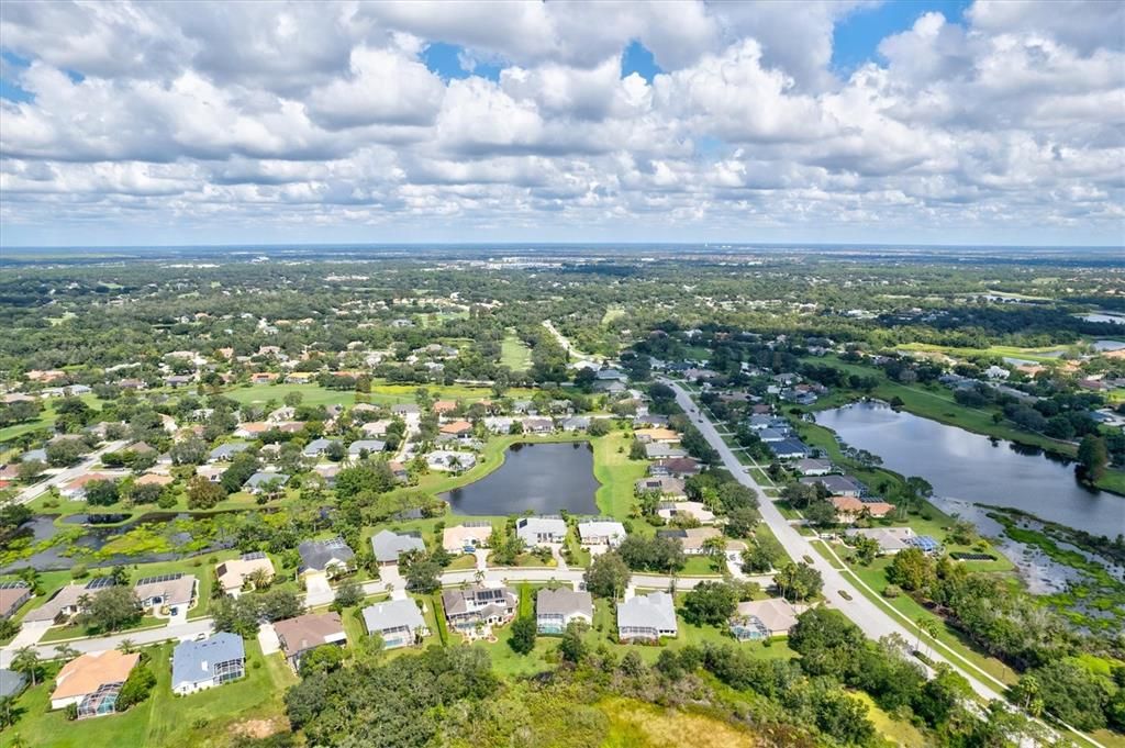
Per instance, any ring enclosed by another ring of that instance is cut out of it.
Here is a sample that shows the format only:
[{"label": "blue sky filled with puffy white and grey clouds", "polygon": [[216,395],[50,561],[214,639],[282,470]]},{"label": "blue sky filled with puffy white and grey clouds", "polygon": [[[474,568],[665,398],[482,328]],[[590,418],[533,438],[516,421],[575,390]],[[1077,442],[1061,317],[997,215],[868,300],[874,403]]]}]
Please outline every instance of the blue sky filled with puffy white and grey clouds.
[{"label": "blue sky filled with puffy white and grey clouds", "polygon": [[1123,245],[1123,37],[1125,0],[6,0],[0,247]]}]

